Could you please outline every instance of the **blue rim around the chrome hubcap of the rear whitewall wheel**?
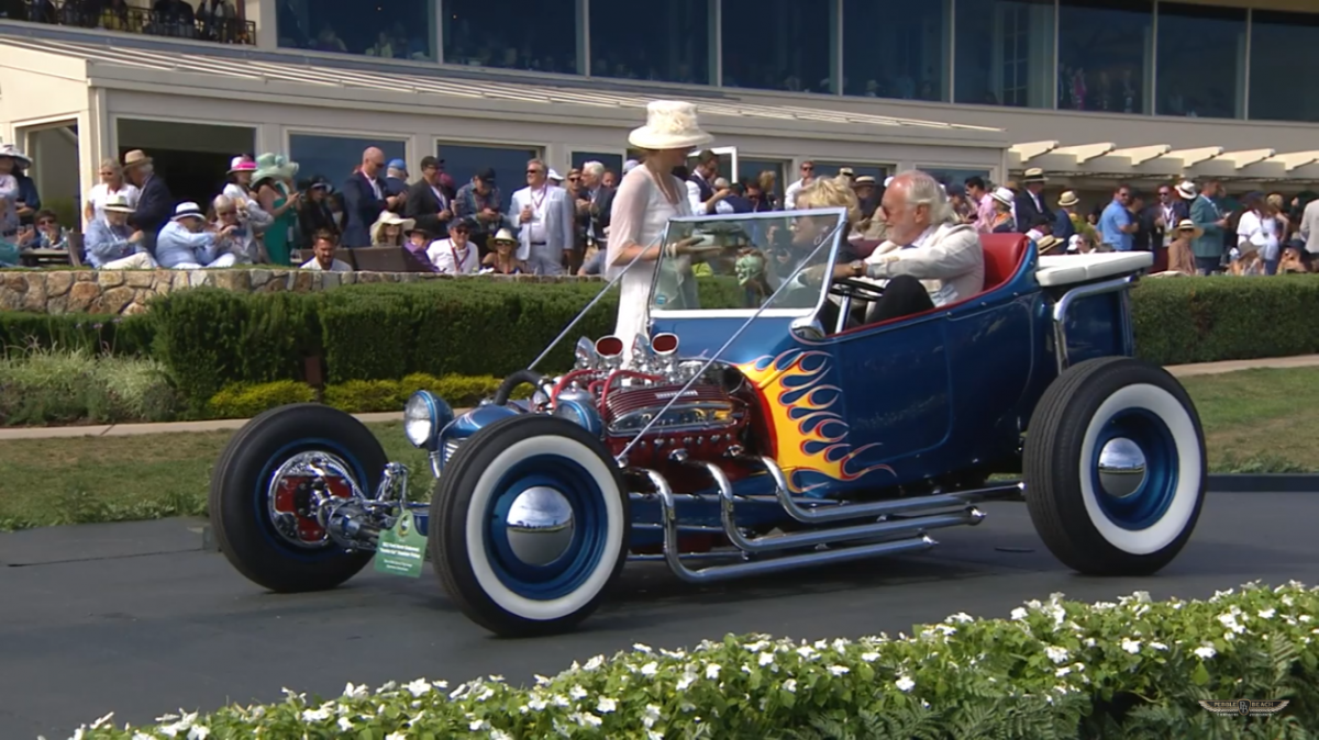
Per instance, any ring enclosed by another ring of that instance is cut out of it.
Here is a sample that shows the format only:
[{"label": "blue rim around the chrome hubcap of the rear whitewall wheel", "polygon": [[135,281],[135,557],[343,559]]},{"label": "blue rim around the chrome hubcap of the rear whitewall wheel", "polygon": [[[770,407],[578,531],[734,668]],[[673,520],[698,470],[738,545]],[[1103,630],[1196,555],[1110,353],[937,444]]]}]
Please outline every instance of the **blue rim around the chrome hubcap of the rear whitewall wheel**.
[{"label": "blue rim around the chrome hubcap of the rear whitewall wheel", "polygon": [[[1145,478],[1128,496],[1115,496],[1099,474],[1104,445],[1126,438],[1145,456]],[[1177,495],[1179,457],[1173,431],[1155,413],[1144,408],[1126,408],[1115,413],[1100,429],[1089,461],[1091,486],[1099,508],[1115,525],[1128,531],[1148,529],[1167,514]]]}]

